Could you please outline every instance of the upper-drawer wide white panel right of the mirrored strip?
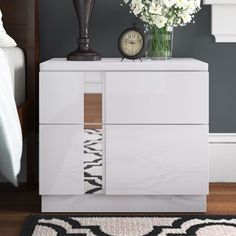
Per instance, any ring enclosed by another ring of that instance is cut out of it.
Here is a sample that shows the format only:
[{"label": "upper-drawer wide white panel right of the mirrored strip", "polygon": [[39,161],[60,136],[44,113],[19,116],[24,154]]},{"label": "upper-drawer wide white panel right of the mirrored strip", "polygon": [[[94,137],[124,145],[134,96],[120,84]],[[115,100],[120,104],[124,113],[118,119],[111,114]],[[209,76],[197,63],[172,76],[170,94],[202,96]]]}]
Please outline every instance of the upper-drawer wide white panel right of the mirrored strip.
[{"label": "upper-drawer wide white panel right of the mirrored strip", "polygon": [[106,124],[208,124],[207,72],[108,72]]}]

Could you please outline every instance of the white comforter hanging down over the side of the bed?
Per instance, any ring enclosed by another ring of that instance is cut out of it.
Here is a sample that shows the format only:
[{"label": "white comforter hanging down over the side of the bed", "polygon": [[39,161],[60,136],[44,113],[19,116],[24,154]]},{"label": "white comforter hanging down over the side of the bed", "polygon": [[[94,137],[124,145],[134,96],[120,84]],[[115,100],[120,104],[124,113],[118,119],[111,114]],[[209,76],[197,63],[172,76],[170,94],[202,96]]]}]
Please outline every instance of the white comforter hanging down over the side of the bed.
[{"label": "white comforter hanging down over the side of the bed", "polygon": [[22,132],[11,82],[11,71],[0,48],[0,172],[17,185],[22,155]]}]

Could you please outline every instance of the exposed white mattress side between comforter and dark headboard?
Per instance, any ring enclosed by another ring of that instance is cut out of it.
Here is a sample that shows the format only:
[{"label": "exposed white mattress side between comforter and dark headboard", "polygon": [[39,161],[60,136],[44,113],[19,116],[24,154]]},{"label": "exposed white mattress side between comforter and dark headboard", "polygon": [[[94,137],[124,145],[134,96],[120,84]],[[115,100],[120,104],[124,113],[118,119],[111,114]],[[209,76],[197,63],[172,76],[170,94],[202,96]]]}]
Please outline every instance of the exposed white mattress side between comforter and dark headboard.
[{"label": "exposed white mattress side between comforter and dark headboard", "polygon": [[2,48],[11,71],[12,87],[16,105],[25,101],[25,57],[22,49],[18,47]]}]

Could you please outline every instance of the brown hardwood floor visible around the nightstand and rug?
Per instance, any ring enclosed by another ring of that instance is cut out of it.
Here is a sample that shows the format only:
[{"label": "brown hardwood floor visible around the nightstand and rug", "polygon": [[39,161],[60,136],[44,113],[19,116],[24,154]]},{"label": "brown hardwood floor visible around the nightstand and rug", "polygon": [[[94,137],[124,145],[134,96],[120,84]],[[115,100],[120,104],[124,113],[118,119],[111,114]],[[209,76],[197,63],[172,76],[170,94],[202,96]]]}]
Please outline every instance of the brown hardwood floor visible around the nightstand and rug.
[{"label": "brown hardwood floor visible around the nightstand and rug", "polygon": [[[27,191],[24,186],[14,189],[13,187],[0,185],[1,236],[18,236],[24,221],[32,214],[40,214],[40,197],[36,191]],[[236,215],[236,183],[210,185],[206,214]]]}]

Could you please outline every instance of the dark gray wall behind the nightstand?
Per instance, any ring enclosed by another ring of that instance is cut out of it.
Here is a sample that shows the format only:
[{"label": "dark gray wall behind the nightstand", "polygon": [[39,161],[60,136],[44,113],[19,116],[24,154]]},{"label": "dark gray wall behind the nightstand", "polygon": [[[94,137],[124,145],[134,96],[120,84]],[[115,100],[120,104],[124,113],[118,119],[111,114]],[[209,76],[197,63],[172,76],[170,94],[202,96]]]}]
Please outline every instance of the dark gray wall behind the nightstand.
[{"label": "dark gray wall behind the nightstand", "polygon": [[[130,26],[121,0],[97,0],[91,20],[92,45],[103,57],[120,56],[117,38]],[[65,57],[76,47],[77,19],[72,0],[41,0],[41,61]],[[209,6],[196,23],[175,30],[175,57],[194,57],[210,66],[210,132],[236,133],[236,44],[215,43]]]}]

